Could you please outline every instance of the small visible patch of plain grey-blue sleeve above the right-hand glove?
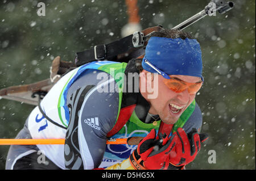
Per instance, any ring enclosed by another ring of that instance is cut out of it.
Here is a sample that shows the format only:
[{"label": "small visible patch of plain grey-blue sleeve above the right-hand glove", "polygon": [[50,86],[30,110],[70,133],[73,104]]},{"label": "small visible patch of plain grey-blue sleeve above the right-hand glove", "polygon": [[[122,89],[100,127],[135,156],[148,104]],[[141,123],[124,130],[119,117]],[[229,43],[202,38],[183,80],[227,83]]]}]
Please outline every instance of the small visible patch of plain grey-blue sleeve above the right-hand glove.
[{"label": "small visible patch of plain grey-blue sleeve above the right-hand glove", "polygon": [[183,129],[187,133],[191,132],[192,128],[196,128],[196,130],[200,132],[202,122],[202,113],[198,104],[196,103],[195,110],[193,111],[192,115],[189,117],[187,122],[184,124]]}]

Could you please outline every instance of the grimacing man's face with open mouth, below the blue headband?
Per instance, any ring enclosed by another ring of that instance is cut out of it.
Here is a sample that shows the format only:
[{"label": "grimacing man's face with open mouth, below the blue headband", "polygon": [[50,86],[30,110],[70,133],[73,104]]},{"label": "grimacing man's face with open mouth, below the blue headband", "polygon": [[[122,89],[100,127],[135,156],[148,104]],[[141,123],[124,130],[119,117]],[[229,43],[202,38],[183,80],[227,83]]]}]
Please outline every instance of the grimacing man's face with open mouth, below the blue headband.
[{"label": "grimacing man's face with open mouth, below the blue headband", "polygon": [[[141,93],[151,105],[149,112],[152,114],[158,114],[160,119],[166,124],[176,123],[181,114],[192,103],[193,99],[195,99],[196,94],[190,94],[188,89],[185,89],[183,92],[179,93],[174,92],[164,84],[164,78],[162,75],[154,74],[154,79],[157,79],[156,81],[152,78],[153,74],[152,76],[147,76],[147,74],[151,73],[148,73],[146,70],[142,71],[141,85],[146,82],[146,85],[151,86],[154,92],[146,91]],[[201,81],[200,77],[193,77],[188,75],[171,76],[189,83],[197,83]]]}]

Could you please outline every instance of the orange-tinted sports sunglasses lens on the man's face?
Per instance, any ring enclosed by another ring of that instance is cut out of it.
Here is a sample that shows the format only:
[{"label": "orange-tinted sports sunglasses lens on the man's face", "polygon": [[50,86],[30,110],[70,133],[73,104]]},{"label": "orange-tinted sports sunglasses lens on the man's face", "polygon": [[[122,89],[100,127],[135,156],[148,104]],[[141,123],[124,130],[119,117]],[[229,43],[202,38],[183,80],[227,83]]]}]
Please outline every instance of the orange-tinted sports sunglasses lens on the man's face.
[{"label": "orange-tinted sports sunglasses lens on the man's face", "polygon": [[189,83],[181,81],[175,77],[170,77],[170,79],[164,79],[164,84],[169,87],[174,92],[183,92],[188,89],[189,94],[196,94],[203,85],[203,81],[199,83]]}]

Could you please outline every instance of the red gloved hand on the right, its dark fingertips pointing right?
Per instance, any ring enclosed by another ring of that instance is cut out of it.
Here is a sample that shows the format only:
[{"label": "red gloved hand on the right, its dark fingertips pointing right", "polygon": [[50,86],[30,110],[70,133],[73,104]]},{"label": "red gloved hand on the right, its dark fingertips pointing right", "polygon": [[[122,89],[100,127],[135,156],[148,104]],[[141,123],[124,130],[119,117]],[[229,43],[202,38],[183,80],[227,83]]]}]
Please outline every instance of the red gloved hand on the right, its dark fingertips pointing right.
[{"label": "red gloved hand on the right, its dark fingertips pointing right", "polygon": [[206,133],[197,133],[195,128],[188,134],[182,128],[178,128],[174,135],[176,144],[170,153],[170,163],[174,166],[185,166],[192,162],[200,151],[201,142],[209,138]]}]

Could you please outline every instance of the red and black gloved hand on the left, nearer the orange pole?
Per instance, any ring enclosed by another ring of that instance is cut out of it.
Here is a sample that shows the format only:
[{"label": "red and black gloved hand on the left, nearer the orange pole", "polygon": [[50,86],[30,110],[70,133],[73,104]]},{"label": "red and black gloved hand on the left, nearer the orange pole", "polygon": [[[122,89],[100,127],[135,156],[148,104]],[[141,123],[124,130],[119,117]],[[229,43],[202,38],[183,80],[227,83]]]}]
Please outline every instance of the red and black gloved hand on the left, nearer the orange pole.
[{"label": "red and black gloved hand on the left, nearer the orange pole", "polygon": [[175,137],[176,135],[168,138],[166,134],[159,134],[156,139],[156,131],[152,129],[130,155],[131,165],[136,170],[167,170]]}]

